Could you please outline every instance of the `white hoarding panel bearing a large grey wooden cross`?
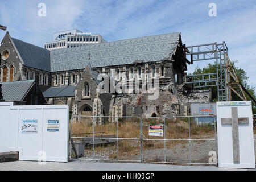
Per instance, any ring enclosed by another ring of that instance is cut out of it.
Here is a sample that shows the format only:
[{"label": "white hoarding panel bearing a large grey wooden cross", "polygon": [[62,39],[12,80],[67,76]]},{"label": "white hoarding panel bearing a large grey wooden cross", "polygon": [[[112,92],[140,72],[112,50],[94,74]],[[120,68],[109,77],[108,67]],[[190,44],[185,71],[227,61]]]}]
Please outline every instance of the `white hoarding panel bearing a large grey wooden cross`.
[{"label": "white hoarding panel bearing a large grey wooden cross", "polygon": [[255,168],[251,101],[217,102],[218,163]]}]

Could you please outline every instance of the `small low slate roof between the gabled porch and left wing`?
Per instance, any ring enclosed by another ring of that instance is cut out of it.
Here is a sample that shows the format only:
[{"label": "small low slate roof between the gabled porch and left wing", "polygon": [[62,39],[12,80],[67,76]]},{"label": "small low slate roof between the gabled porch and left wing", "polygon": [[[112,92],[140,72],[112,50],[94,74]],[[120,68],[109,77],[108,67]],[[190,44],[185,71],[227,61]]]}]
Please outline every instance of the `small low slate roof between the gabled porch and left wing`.
[{"label": "small low slate roof between the gabled porch and left wing", "polygon": [[75,97],[76,85],[69,86],[52,86],[43,92],[43,96],[47,97]]}]

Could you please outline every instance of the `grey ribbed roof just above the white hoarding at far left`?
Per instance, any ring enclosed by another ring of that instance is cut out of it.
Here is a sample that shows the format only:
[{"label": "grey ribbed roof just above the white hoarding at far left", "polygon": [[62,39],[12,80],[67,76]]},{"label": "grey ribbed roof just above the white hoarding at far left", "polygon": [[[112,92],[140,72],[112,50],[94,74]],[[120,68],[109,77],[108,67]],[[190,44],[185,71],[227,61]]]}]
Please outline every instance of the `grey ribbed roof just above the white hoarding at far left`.
[{"label": "grey ribbed roof just above the white hoarding at far left", "polygon": [[5,101],[23,101],[35,80],[0,82]]}]

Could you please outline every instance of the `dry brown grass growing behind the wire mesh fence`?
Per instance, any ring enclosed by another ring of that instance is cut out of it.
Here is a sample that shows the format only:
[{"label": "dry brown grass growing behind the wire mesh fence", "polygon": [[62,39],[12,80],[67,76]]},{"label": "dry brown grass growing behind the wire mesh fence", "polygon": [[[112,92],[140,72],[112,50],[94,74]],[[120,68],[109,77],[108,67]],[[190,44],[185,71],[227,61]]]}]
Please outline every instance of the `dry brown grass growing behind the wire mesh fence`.
[{"label": "dry brown grass growing behind the wire mesh fence", "polygon": [[[184,119],[185,120],[185,119]],[[166,139],[188,139],[189,138],[189,127],[188,122],[182,119],[170,119],[166,120]],[[164,139],[164,137],[152,137],[148,136],[148,125],[149,124],[162,124],[161,121],[148,120],[143,121],[142,134],[144,139]],[[140,122],[138,119],[118,121],[118,138],[140,138]],[[104,135],[115,135],[117,136],[117,124],[106,123],[104,125],[95,125],[94,133],[95,136],[100,135],[97,132],[104,132]],[[73,122],[72,123],[72,134],[77,133],[93,133],[92,124],[88,125],[84,122]],[[103,135],[103,136],[104,136]],[[82,135],[80,135],[82,136]],[[85,135],[84,135],[85,136]],[[92,136],[92,134],[90,135]],[[207,125],[198,126],[196,123],[191,122],[191,138],[213,138],[214,128]],[[197,142],[204,142],[203,140]],[[139,155],[140,140],[123,139],[118,141],[118,159],[129,158],[128,156]],[[182,148],[188,147],[188,140],[168,140],[166,141],[167,148],[173,148],[177,145],[181,145]],[[96,146],[96,151],[104,151],[108,149],[116,150],[116,145],[112,146]],[[164,140],[144,140],[143,150],[154,150],[158,148],[164,148]],[[115,159],[116,154],[109,155],[110,159]]]}]

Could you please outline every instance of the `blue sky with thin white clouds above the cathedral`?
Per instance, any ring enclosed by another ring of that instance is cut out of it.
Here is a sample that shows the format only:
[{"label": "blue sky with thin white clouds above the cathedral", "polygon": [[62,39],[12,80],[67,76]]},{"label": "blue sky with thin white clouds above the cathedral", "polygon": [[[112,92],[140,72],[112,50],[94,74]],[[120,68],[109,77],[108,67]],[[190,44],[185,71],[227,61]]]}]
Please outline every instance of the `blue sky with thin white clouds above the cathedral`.
[{"label": "blue sky with thin white clouds above the cathedral", "polygon": [[[46,4],[46,16],[38,16],[38,4]],[[209,3],[217,16],[210,17]],[[222,43],[230,60],[239,60],[249,84],[256,87],[256,1],[1,1],[0,24],[14,38],[43,47],[54,32],[77,28],[100,34],[107,41],[181,32],[190,45]],[[0,39],[5,35],[0,31]],[[188,65],[188,72],[210,61]]]}]

